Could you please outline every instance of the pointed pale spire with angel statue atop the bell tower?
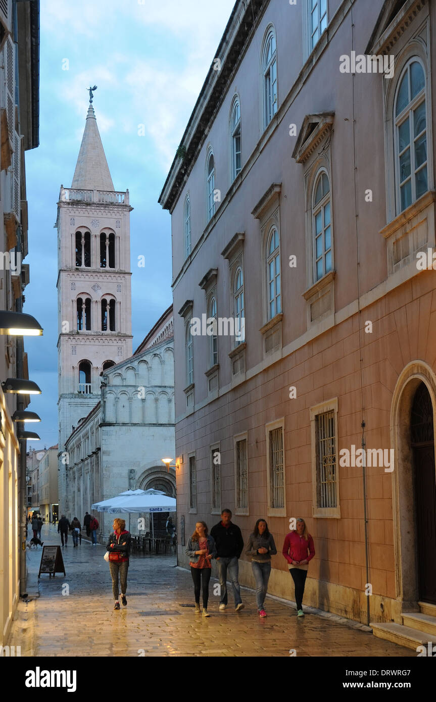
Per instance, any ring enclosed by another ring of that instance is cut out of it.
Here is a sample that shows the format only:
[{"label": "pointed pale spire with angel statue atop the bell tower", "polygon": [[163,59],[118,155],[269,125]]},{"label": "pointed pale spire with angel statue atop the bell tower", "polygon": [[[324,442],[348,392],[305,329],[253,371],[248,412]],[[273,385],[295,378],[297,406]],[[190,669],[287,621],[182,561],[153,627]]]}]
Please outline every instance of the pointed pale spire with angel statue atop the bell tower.
[{"label": "pointed pale spire with angel statue atop the bell tower", "polygon": [[76,190],[114,190],[105,150],[98,131],[94,108],[91,104],[94,88],[89,88],[90,102],[86,115],[85,131],[81,140],[79,157],[72,181]]}]

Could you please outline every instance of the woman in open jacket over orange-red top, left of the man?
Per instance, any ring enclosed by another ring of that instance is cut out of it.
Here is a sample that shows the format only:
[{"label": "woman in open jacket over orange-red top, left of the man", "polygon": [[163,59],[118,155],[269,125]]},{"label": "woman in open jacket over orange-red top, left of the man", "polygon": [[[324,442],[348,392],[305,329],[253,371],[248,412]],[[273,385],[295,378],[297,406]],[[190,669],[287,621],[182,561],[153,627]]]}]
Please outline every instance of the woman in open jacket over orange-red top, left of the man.
[{"label": "woman in open jacket over orange-red top, left of the man", "polygon": [[200,614],[200,588],[203,592],[203,616],[211,616],[207,611],[209,601],[209,581],[211,579],[211,558],[216,557],[213,536],[208,534],[206,522],[195,524],[194,534],[189,538],[186,555],[190,557],[192,580],[194,581],[195,614]]}]

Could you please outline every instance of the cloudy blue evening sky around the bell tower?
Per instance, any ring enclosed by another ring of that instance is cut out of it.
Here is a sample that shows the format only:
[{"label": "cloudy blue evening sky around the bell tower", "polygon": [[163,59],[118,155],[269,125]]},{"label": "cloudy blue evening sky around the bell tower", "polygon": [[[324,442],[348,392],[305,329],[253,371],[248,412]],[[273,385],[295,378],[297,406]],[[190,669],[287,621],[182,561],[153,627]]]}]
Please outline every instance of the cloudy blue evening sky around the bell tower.
[{"label": "cloudy blue evening sky around the bell tower", "polygon": [[[115,190],[130,191],[133,349],[171,304],[171,218],[157,203],[234,0],[43,0],[37,149],[26,154],[30,284],[24,311],[44,336],[25,337],[42,395],[41,442],[58,442],[57,241],[60,185],[76,166],[93,107]],[[67,61],[65,61],[67,59]],[[67,70],[62,67],[68,67]],[[138,125],[145,135],[138,135]],[[138,256],[146,259],[138,268]],[[32,442],[28,442],[32,446]]]}]

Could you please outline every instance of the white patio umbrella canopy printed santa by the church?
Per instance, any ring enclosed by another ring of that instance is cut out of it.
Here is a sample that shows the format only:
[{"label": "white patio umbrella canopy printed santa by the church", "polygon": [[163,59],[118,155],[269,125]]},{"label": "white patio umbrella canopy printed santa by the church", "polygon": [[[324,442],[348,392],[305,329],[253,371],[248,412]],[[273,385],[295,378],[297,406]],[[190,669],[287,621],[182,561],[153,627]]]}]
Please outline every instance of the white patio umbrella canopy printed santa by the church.
[{"label": "white patio umbrella canopy printed santa by the church", "polygon": [[[141,512],[176,512],[176,499],[161,490],[126,490],[109,500],[95,502],[91,509],[109,512],[112,515],[120,512],[128,515]],[[152,530],[154,532],[153,520]]]}]

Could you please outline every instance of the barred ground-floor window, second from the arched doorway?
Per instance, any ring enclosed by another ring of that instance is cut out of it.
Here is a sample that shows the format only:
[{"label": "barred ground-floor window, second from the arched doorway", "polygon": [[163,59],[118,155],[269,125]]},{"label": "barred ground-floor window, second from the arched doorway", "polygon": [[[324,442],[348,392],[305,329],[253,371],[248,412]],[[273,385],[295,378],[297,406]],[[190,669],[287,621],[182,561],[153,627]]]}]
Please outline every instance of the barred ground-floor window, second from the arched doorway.
[{"label": "barred ground-floor window, second from the arched doorway", "polygon": [[268,515],[286,516],[284,420],[266,427]]}]

